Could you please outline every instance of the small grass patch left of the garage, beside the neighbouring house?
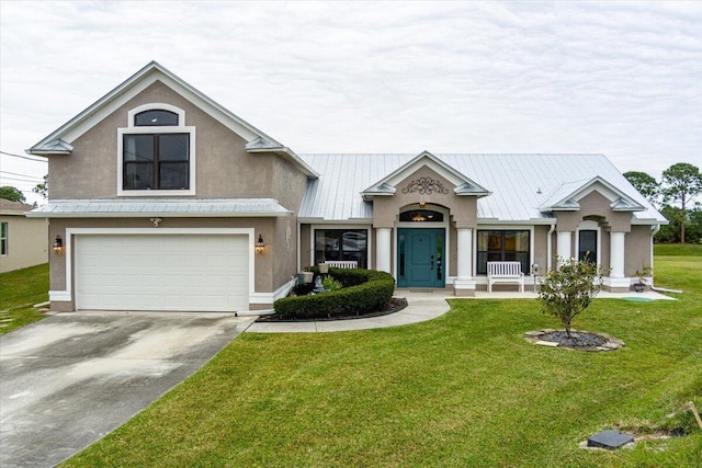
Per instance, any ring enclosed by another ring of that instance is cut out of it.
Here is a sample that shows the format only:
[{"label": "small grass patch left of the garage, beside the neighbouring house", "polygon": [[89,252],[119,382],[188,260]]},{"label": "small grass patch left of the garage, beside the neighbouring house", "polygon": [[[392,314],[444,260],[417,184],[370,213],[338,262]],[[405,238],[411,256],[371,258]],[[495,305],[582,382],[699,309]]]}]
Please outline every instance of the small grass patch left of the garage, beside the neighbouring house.
[{"label": "small grass patch left of the garage, beside the neighbouring house", "polygon": [[0,274],[0,334],[42,320],[32,306],[46,300],[48,263]]}]

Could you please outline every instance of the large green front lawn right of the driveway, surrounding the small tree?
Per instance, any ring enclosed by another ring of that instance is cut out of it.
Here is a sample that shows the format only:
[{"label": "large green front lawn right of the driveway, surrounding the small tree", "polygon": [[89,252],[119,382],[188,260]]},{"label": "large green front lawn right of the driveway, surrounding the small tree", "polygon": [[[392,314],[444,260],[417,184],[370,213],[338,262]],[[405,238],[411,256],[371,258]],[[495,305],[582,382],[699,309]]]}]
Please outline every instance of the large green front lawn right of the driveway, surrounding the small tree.
[{"label": "large green front lawn right of the driveway, surrounding the small tree", "polygon": [[698,467],[699,430],[611,453],[578,444],[702,407],[701,263],[656,258],[679,301],[598,299],[576,319],[624,340],[615,352],[528,343],[557,326],[534,300],[456,299],[393,329],[245,333],[64,466]]}]

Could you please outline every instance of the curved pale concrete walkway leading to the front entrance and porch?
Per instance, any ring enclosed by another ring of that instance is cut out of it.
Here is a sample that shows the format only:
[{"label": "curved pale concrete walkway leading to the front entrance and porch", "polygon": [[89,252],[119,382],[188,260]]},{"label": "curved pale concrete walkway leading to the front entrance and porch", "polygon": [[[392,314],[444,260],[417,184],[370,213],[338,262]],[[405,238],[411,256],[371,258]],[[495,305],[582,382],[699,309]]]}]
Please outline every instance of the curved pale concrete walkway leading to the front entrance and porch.
[{"label": "curved pale concrete walkway leading to the front entrance and porch", "polygon": [[[407,307],[398,312],[382,317],[367,319],[343,319],[343,320],[320,320],[309,322],[254,322],[246,331],[252,333],[324,333],[332,331],[370,330],[376,328],[388,328],[404,326],[408,323],[423,322],[435,319],[446,313],[450,309],[446,299],[536,299],[537,294],[533,292],[522,293],[498,293],[476,292],[475,297],[458,298],[452,292],[439,289],[434,292],[412,292],[397,289],[395,297],[407,299]],[[676,300],[655,292],[646,293],[607,293],[601,292],[597,298],[624,299],[634,298],[638,300]],[[596,298],[596,300],[597,300]]]}]

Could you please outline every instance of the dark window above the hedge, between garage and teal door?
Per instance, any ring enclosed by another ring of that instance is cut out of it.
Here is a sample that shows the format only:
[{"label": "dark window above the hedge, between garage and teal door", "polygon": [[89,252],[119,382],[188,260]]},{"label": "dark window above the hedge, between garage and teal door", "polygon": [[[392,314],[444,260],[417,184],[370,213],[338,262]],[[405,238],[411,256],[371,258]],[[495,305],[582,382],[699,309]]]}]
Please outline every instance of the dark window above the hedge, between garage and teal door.
[{"label": "dark window above the hedge, between garage and teal door", "polygon": [[367,267],[366,229],[315,229],[315,262],[352,260]]}]

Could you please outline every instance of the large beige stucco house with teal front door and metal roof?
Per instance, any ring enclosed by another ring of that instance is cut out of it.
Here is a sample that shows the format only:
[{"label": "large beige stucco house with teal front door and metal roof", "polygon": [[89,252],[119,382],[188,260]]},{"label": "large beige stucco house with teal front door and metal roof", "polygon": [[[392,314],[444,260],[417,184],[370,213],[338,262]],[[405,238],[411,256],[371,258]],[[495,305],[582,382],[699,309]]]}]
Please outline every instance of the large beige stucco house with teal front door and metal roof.
[{"label": "large beige stucco house with teal front door and metal roof", "polygon": [[54,310],[264,309],[320,261],[469,296],[589,252],[629,290],[667,222],[601,155],[301,156],[157,62],[27,152]]}]

